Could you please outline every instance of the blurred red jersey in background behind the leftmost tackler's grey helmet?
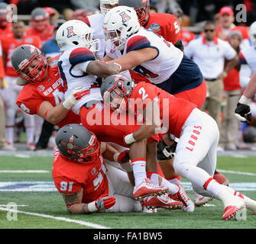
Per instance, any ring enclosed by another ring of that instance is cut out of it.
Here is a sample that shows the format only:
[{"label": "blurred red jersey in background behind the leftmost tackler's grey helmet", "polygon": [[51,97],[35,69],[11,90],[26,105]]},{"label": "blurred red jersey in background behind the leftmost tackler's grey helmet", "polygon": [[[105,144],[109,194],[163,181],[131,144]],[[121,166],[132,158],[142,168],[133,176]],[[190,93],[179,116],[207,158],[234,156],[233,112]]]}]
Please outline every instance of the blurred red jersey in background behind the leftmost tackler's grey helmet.
[{"label": "blurred red jersey in background behind the leftmost tackler's grey helmet", "polygon": [[22,40],[17,40],[12,36],[2,38],[2,51],[5,53],[5,75],[18,77],[11,65],[11,55],[17,47],[23,44],[31,44],[34,47],[41,48],[41,40],[36,36],[25,36]]}]

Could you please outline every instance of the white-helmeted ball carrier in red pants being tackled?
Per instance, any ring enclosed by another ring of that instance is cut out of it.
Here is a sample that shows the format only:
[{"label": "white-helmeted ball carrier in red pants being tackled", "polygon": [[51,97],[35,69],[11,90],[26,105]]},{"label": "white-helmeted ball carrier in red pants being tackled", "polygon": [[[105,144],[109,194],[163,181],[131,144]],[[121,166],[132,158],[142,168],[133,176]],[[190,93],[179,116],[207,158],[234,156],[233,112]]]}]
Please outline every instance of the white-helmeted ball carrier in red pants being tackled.
[{"label": "white-helmeted ball carrier in red pants being tackled", "polygon": [[[126,146],[123,143],[123,136],[129,131],[133,131],[135,126],[139,127],[140,125],[129,120],[131,119],[129,117],[116,117],[102,105],[99,82],[95,75],[106,75],[101,66],[92,69],[93,62],[102,63],[95,61],[96,56],[92,53],[92,51],[99,50],[97,49],[99,40],[92,39],[92,32],[92,28],[82,21],[67,21],[57,30],[56,39],[62,52],[58,62],[60,75],[66,81],[68,88],[65,96],[69,95],[70,90],[77,86],[88,89],[89,93],[80,99],[73,107],[73,111],[80,114],[82,124],[95,133],[100,141],[112,141]],[[115,67],[115,73],[121,69],[115,63],[112,66],[113,69]],[[155,140],[158,140],[157,137],[152,136],[151,141]],[[144,150],[139,150],[138,146],[133,146],[130,149],[132,152],[130,158],[134,161],[134,197],[139,198],[147,194],[157,194],[158,192],[161,194],[167,191],[166,187],[154,186],[149,183],[146,177],[146,144],[142,141],[138,143],[141,143]]]}]

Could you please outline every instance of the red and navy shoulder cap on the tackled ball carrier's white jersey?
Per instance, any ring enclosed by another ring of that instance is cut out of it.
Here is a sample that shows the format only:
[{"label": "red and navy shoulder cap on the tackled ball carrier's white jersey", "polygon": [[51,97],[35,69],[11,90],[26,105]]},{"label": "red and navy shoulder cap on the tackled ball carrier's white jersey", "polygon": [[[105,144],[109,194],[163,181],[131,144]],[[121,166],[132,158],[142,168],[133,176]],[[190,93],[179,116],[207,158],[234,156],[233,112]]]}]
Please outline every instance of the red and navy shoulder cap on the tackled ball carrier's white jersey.
[{"label": "red and navy shoulder cap on the tackled ball carrier's white jersey", "polygon": [[76,66],[78,63],[96,60],[96,57],[86,47],[78,47],[70,53],[70,64]]}]

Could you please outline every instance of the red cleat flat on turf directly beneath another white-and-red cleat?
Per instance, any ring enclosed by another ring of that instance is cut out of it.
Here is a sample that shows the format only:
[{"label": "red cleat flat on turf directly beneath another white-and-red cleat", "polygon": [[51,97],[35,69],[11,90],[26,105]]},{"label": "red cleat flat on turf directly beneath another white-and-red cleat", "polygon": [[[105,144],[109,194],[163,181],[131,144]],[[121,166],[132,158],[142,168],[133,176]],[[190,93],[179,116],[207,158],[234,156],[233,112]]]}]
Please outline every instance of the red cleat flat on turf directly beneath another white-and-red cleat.
[{"label": "red cleat flat on turf directly beneath another white-and-red cleat", "polygon": [[183,203],[181,201],[170,199],[167,194],[163,194],[160,196],[145,197],[141,201],[141,206],[146,207],[147,209],[167,208],[171,210],[181,209],[183,207]]}]

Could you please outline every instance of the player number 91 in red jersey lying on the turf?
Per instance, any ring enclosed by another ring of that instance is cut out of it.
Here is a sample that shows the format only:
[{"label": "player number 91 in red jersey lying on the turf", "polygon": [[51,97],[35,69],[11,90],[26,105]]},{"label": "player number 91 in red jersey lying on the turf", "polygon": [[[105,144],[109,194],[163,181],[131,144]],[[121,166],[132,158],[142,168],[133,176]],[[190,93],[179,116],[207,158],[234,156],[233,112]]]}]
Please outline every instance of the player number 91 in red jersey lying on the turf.
[{"label": "player number 91 in red jersey lying on the turf", "polygon": [[[126,172],[106,165],[103,160],[105,156],[113,161],[118,152],[113,149],[109,152],[109,145],[99,143],[95,134],[79,124],[62,127],[57,133],[56,144],[53,181],[69,213],[141,211]],[[131,173],[129,159],[124,161],[122,167]]]}]

